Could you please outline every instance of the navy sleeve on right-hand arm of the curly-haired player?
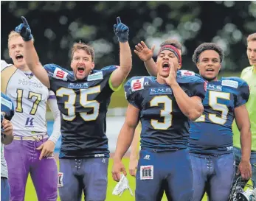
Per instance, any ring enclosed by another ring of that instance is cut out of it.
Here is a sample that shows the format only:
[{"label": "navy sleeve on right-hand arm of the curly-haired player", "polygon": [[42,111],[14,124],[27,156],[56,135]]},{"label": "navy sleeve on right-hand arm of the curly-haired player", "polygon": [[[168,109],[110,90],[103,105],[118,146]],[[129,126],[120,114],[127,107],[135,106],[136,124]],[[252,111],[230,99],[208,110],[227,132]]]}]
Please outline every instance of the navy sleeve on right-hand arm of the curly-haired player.
[{"label": "navy sleeve on right-hand arm of the curly-haired player", "polygon": [[243,104],[246,104],[250,96],[249,85],[246,81],[238,80],[238,94],[235,99],[235,107],[239,107]]}]

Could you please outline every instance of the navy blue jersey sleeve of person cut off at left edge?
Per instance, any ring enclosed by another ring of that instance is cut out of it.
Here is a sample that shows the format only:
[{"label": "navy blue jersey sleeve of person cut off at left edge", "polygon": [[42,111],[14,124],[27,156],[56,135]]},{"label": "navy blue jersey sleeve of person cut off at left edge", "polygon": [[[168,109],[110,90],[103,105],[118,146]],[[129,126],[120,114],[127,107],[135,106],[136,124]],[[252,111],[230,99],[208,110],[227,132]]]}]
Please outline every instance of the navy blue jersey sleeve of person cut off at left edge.
[{"label": "navy blue jersey sleeve of person cut off at left edge", "polygon": [[[1,93],[1,121],[3,119],[11,120],[14,115],[14,105],[12,100]],[[2,130],[1,130],[2,131]]]}]

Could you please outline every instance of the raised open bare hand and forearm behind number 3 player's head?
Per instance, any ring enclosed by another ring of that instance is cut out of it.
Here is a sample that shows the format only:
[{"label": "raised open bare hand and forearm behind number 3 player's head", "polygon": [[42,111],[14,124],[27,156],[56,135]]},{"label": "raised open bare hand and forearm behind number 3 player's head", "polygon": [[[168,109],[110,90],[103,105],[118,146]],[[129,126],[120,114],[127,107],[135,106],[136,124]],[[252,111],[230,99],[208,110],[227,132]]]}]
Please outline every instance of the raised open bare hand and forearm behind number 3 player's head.
[{"label": "raised open bare hand and forearm behind number 3 player's head", "polygon": [[157,69],[156,63],[153,61],[153,50],[155,46],[152,46],[151,49],[146,46],[146,44],[141,41],[135,46],[134,52],[138,55],[138,57],[144,61],[145,67],[148,71],[148,74],[156,77],[157,76]]}]

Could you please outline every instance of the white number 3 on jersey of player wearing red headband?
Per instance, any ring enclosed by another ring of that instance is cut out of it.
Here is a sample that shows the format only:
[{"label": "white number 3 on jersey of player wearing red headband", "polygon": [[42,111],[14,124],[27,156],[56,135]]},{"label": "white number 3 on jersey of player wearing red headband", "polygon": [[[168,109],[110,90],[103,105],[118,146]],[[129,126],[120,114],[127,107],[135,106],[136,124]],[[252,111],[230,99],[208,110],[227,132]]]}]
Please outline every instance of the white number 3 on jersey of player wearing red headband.
[{"label": "white number 3 on jersey of player wearing red headband", "polygon": [[151,119],[151,125],[154,129],[167,130],[172,126],[173,116],[170,114],[173,111],[172,100],[168,96],[155,96],[150,102],[151,107],[164,104],[164,110],[160,111],[160,116],[164,117],[164,122],[159,122],[156,119]]}]

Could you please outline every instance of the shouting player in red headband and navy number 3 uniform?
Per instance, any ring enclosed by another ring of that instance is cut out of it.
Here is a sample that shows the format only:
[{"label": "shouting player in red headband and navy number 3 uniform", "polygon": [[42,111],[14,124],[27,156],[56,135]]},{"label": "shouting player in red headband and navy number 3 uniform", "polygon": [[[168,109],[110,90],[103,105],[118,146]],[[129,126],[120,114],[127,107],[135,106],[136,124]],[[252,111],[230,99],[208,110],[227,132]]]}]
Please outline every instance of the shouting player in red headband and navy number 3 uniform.
[{"label": "shouting player in red headband and navy number 3 uniform", "polygon": [[[141,147],[136,172],[136,200],[157,200],[165,181],[174,201],[193,197],[193,173],[188,152],[189,123],[204,108],[204,80],[191,71],[180,71],[181,55],[175,46],[159,51],[157,77],[132,77],[125,84],[128,110],[117,140],[112,177],[126,174],[122,157],[141,121]],[[186,182],[184,182],[186,181]]]}]

